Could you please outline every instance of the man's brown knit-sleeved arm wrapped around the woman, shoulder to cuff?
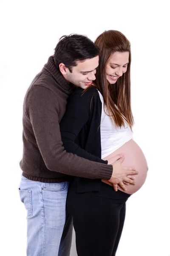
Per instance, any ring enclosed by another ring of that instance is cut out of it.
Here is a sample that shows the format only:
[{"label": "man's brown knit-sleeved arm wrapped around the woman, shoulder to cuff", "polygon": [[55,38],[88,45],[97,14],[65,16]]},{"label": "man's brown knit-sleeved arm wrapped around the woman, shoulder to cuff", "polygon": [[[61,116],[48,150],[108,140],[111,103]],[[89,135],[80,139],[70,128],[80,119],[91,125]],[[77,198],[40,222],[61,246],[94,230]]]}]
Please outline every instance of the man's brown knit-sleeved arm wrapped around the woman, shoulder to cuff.
[{"label": "man's brown knit-sleeved arm wrapped around the woman, shoulder to cuff", "polygon": [[25,111],[49,170],[92,179],[111,178],[112,165],[89,161],[64,150],[59,128],[59,105],[51,90],[34,85],[27,96]]}]

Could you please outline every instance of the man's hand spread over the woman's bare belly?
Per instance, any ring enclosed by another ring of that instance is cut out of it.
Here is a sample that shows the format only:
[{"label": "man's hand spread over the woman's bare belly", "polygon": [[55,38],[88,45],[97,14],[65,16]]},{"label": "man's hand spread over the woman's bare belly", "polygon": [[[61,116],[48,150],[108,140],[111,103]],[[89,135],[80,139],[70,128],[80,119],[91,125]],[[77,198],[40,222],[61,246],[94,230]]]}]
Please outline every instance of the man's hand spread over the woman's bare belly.
[{"label": "man's hand spread over the woman's bare belly", "polygon": [[123,181],[129,184],[134,184],[135,177],[131,176],[131,178],[129,178],[127,177],[127,175],[136,175],[138,174],[138,172],[134,167],[122,166],[122,163],[125,160],[123,153],[116,155],[111,160],[112,160],[112,166],[113,166],[113,173],[109,182],[113,184],[113,188],[115,191],[117,191],[118,189],[117,188],[118,184],[123,190],[126,191],[126,187]]}]

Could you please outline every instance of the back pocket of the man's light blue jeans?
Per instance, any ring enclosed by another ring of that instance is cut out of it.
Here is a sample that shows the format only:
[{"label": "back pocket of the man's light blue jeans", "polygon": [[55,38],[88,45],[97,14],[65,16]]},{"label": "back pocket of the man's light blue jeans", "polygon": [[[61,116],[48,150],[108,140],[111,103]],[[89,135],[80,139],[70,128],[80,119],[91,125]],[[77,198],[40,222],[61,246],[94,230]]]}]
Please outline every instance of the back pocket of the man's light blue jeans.
[{"label": "back pocket of the man's light blue jeans", "polygon": [[27,210],[27,217],[32,216],[32,196],[31,190],[23,190],[19,188],[20,199]]}]

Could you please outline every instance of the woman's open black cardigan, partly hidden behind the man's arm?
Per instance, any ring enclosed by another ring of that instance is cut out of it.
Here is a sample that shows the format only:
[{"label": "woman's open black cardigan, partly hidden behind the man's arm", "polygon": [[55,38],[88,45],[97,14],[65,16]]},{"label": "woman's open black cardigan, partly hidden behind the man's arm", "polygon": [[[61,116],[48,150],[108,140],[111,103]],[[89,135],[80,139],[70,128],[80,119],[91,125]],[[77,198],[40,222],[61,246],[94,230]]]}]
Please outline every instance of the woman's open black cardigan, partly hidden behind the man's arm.
[{"label": "woman's open black cardigan, partly hidden behind the man's arm", "polygon": [[[77,87],[68,99],[60,131],[65,150],[91,161],[105,163],[101,159],[100,122],[102,102],[95,87],[83,93]],[[77,192],[99,191],[101,180],[75,177]]]}]

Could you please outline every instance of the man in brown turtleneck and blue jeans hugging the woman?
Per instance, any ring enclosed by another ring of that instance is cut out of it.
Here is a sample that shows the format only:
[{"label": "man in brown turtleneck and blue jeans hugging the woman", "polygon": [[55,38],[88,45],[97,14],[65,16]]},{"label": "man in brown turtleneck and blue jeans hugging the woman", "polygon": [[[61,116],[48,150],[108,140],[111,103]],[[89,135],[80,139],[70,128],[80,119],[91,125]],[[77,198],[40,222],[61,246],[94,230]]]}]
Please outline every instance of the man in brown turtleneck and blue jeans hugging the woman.
[{"label": "man in brown turtleneck and blue jeans hugging the woman", "polygon": [[68,96],[74,85],[91,84],[98,64],[99,50],[90,39],[64,36],[26,93],[19,191],[27,209],[27,256],[69,256],[72,223],[65,212],[69,175],[107,179],[124,188],[126,175],[137,174],[133,168],[121,167],[121,154],[113,165],[107,165],[101,159],[96,163],[77,157],[62,147],[59,122]]}]

